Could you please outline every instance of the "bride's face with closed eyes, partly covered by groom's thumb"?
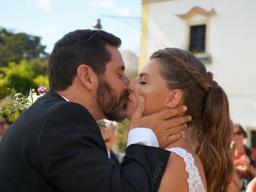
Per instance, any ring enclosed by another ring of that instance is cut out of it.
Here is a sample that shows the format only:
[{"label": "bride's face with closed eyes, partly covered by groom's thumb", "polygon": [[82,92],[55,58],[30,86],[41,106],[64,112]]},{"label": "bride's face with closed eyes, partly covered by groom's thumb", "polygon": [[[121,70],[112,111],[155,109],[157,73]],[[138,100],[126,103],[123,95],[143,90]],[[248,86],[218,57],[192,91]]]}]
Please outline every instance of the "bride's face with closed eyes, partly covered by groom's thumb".
[{"label": "bride's face with closed eyes, partly covered by groom's thumb", "polygon": [[131,119],[136,109],[138,96],[145,98],[146,106],[143,116],[147,116],[164,110],[169,100],[169,92],[166,88],[166,81],[159,74],[160,62],[155,59],[149,60],[140,71],[138,77],[132,81],[128,90],[130,91],[127,100],[127,118]]}]

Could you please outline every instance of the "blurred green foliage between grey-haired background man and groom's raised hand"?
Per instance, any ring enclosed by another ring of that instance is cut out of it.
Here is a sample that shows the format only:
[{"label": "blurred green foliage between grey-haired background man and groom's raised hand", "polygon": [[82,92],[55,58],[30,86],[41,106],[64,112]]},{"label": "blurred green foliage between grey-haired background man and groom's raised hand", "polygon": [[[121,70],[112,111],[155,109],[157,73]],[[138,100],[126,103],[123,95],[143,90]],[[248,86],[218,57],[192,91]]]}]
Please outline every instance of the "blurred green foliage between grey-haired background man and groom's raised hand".
[{"label": "blurred green foliage between grey-haired background man and groom's raised hand", "polygon": [[128,121],[127,119],[125,119],[122,123],[118,124],[117,139],[114,145],[112,146],[112,148],[120,152],[125,152],[129,124],[130,124],[130,121]]}]

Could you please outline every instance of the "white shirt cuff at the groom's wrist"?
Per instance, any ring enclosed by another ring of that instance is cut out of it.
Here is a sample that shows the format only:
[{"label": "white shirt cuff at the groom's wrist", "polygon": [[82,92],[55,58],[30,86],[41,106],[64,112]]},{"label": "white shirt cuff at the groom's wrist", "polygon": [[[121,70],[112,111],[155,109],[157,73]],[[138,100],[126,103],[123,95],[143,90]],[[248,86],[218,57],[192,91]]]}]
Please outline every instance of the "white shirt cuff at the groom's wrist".
[{"label": "white shirt cuff at the groom's wrist", "polygon": [[156,135],[149,128],[134,128],[128,132],[127,147],[130,144],[141,144],[159,147]]}]

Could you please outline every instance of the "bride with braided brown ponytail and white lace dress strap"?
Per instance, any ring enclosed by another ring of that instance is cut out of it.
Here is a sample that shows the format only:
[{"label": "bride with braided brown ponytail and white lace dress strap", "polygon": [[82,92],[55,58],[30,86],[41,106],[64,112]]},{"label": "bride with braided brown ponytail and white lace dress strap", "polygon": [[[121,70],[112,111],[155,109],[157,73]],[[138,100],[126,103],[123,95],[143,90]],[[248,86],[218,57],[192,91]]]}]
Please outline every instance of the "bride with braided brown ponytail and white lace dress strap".
[{"label": "bride with braided brown ponytail and white lace dress strap", "polygon": [[159,191],[228,191],[234,173],[228,98],[204,64],[178,48],[159,50],[128,89],[128,118],[140,95],[145,116],[181,104],[192,116],[184,138],[166,146],[172,153]]}]

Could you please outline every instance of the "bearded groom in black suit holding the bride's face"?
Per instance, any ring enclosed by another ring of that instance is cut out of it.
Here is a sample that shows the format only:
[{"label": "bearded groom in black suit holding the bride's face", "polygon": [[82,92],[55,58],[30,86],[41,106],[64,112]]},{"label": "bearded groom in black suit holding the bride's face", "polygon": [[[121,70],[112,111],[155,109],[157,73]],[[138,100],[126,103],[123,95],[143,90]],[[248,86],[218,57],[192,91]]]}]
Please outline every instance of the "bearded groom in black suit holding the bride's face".
[{"label": "bearded groom in black suit holding the bride's face", "polygon": [[[50,92],[24,111],[2,138],[0,191],[158,190],[170,153],[136,144],[151,142],[134,128],[151,128],[156,136],[148,137],[157,137],[163,148],[181,137],[179,131],[186,127],[182,123],[189,117],[170,119],[184,112],[183,107],[142,117],[145,104],[140,97],[129,127],[128,139],[134,141],[128,141],[121,170],[115,168],[96,121],[126,117],[129,80],[120,44],[119,38],[100,30],[76,30],[55,44],[48,60]],[[149,142],[141,142],[145,140]]]}]

